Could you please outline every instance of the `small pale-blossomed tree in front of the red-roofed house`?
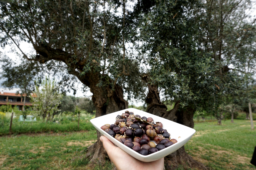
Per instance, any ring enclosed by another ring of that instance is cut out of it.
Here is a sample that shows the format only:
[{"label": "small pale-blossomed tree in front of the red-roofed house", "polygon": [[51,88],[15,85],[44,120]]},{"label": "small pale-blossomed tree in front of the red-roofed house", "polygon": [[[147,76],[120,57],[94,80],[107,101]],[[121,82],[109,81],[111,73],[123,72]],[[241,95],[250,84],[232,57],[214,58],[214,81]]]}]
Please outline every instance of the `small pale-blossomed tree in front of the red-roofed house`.
[{"label": "small pale-blossomed tree in front of the red-roofed house", "polygon": [[58,111],[58,106],[61,103],[62,95],[57,91],[55,82],[49,78],[45,78],[42,86],[36,86],[33,95],[30,95],[34,112],[43,117],[47,116],[46,123],[49,121],[50,116]]}]

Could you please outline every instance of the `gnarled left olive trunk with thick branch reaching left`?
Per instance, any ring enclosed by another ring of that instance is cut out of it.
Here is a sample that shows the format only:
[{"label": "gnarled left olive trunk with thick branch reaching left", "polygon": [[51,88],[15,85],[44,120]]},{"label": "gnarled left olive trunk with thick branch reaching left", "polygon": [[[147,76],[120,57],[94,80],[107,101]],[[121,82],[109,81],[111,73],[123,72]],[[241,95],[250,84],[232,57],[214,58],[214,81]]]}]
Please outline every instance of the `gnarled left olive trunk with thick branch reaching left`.
[{"label": "gnarled left olive trunk with thick branch reaching left", "polygon": [[[92,67],[90,71],[80,75],[87,62],[77,58],[77,62],[70,60],[73,54],[65,52],[61,49],[53,49],[47,45],[41,44],[34,46],[37,51],[35,59],[40,63],[45,63],[49,60],[57,60],[65,63],[69,68],[69,74],[76,76],[84,85],[90,88],[93,93],[92,101],[96,108],[95,117],[103,116],[119,110],[128,108],[128,101],[124,100],[122,87],[118,84],[112,86],[112,79],[108,75],[102,75],[99,71],[95,71]],[[93,63],[98,64],[98,63]],[[99,81],[107,82],[107,85],[97,85]],[[99,140],[101,134],[97,131],[97,142],[88,147],[86,157],[90,159],[89,166],[95,164],[104,164],[107,153],[103,148],[102,142]]]}]

